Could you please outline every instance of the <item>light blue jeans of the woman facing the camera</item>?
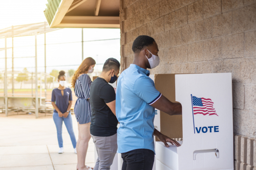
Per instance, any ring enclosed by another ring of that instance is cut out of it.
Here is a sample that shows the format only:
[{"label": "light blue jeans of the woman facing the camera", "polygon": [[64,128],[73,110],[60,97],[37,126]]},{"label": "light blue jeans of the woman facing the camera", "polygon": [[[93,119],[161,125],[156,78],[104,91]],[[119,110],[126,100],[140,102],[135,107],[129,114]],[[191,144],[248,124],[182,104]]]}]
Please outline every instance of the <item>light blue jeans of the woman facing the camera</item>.
[{"label": "light blue jeans of the woman facing the camera", "polygon": [[76,137],[75,137],[75,133],[73,130],[73,124],[72,124],[72,116],[71,113],[69,113],[69,115],[67,116],[67,118],[65,117],[59,117],[58,113],[53,112],[53,121],[56,125],[56,129],[57,129],[57,137],[58,137],[58,143],[59,143],[59,148],[63,147],[63,139],[62,139],[62,122],[64,121],[66,128],[69,132],[72,144],[73,144],[73,148],[76,148]]}]

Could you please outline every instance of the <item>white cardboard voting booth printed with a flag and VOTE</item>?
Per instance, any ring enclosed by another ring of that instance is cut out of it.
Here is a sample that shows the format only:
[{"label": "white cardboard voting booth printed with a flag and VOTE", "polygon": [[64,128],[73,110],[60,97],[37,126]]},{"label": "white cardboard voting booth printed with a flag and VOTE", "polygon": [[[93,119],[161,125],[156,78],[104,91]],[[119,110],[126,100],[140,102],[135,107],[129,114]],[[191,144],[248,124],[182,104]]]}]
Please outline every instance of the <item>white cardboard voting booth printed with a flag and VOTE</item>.
[{"label": "white cardboard voting booth printed with a flag and VOTE", "polygon": [[233,169],[231,73],[154,75],[154,81],[182,104],[182,116],[156,111],[155,126],[171,138],[183,137],[178,148],[156,142],[156,170]]}]

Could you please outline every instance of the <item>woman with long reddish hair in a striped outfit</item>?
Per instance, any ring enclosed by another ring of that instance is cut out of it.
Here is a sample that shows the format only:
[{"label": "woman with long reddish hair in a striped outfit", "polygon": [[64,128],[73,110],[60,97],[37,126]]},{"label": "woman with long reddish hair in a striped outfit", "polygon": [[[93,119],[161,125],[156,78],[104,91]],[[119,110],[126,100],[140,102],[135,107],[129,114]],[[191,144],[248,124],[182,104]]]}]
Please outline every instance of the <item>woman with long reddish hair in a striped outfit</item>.
[{"label": "woman with long reddish hair in a striped outfit", "polygon": [[85,164],[88,143],[91,138],[89,94],[92,80],[87,74],[93,72],[95,64],[95,60],[91,57],[84,59],[72,78],[72,86],[77,96],[74,112],[78,123],[78,140],[76,144],[78,170],[92,169]]}]

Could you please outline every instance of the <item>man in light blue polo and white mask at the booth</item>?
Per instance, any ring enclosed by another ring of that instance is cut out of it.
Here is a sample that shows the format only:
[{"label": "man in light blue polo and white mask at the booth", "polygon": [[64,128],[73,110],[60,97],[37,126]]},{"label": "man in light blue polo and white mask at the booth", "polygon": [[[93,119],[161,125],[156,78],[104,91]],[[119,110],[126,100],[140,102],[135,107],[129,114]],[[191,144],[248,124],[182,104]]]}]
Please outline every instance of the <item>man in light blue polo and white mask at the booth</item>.
[{"label": "man in light blue polo and white mask at the booth", "polygon": [[134,61],[119,76],[116,91],[118,153],[123,159],[122,170],[148,170],[153,168],[155,135],[167,142],[180,144],[154,128],[155,108],[169,114],[181,114],[181,104],[172,103],[156,88],[147,68],[155,68],[160,60],[158,46],[150,36],[137,37],[132,46]]}]

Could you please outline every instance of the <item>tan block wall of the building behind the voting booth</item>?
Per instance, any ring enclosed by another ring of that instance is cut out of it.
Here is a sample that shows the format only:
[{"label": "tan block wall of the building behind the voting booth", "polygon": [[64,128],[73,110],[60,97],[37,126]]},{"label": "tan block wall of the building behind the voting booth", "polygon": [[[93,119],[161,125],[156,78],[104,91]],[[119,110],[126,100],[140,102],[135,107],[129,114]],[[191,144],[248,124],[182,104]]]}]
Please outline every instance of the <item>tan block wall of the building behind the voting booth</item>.
[{"label": "tan block wall of the building behind the voting booth", "polygon": [[120,9],[121,70],[134,39],[149,35],[160,50],[152,74],[232,72],[235,165],[256,169],[256,1],[120,0]]}]

